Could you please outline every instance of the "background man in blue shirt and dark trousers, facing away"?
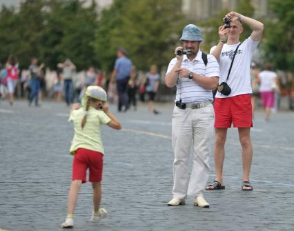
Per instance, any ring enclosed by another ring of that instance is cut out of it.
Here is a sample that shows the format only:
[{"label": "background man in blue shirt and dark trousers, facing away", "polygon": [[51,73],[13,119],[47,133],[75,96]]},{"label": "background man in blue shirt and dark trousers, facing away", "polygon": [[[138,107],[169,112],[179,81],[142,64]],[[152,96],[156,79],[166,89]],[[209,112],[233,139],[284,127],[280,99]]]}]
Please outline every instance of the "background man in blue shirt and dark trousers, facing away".
[{"label": "background man in blue shirt and dark trousers, facing away", "polygon": [[128,110],[128,80],[130,79],[130,72],[132,70],[132,61],[126,57],[126,50],[119,48],[117,50],[117,60],[115,61],[115,68],[112,71],[110,84],[117,81],[117,93],[119,94],[119,101],[117,109],[121,112],[124,106],[124,111]]}]

